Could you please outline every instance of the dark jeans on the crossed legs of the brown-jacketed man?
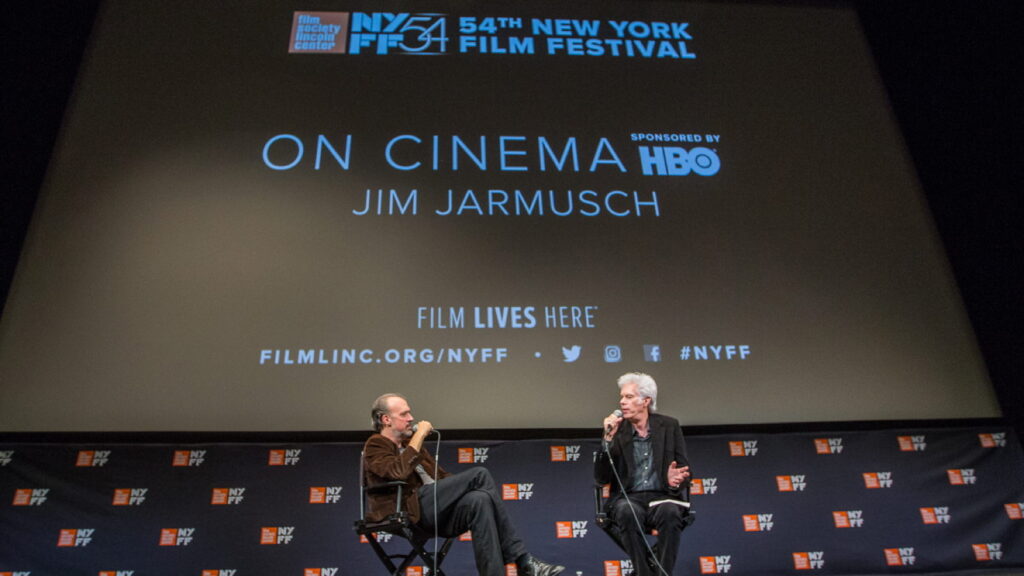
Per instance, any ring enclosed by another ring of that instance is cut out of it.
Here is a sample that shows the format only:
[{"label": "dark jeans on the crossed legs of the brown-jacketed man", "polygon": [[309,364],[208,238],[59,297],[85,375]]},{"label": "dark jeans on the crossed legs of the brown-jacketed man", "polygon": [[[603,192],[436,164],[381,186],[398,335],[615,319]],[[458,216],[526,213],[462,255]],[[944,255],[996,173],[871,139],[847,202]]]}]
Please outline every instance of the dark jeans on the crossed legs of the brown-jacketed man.
[{"label": "dark jeans on the crossed legs of the brown-jacketed man", "polygon": [[434,489],[437,490],[437,531],[441,536],[473,532],[473,557],[480,576],[505,576],[505,565],[526,553],[505,510],[495,480],[486,468],[474,467],[422,486],[420,526],[434,531]]}]

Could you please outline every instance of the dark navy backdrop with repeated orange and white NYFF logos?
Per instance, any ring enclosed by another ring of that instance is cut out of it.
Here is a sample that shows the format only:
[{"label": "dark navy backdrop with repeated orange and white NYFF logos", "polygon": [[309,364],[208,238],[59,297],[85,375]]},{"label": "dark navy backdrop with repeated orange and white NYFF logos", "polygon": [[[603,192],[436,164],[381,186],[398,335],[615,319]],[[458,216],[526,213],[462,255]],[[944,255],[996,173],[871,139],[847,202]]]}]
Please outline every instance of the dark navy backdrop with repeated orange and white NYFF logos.
[{"label": "dark navy backdrop with repeated orange and white NYFF logos", "polygon": [[[1024,466],[999,426],[688,439],[695,522],[675,574],[1024,570]],[[431,441],[430,449],[437,443]],[[599,441],[440,441],[485,466],[520,536],[565,574],[629,576],[594,523]],[[0,574],[386,574],[352,529],[357,443],[5,444]],[[471,534],[442,569],[474,574]],[[390,534],[377,538],[406,548]],[[514,575],[514,567],[508,568]],[[429,573],[415,563],[409,576]]]}]

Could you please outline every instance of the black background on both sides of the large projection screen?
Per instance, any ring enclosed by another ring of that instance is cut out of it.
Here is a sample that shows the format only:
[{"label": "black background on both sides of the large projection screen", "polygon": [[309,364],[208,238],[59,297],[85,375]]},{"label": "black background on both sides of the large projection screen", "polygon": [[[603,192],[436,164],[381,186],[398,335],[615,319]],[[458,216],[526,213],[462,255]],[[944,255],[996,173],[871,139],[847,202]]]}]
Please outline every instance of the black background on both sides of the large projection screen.
[{"label": "black background on both sides of the large projection screen", "polygon": [[[3,301],[98,4],[15,0],[0,8]],[[1024,10],[1013,0],[859,0],[853,5],[1004,412],[1020,431],[1024,241],[1018,230],[1024,214],[1018,194],[1024,94],[1016,85],[1024,43],[1016,33]]]}]

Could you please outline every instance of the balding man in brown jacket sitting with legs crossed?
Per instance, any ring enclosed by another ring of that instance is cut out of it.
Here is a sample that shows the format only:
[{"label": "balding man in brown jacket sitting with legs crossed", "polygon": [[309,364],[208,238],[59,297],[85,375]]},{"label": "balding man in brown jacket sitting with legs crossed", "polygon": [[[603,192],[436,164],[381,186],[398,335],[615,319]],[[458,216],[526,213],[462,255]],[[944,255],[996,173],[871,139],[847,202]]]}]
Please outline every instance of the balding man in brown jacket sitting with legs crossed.
[{"label": "balding man in brown jacket sitting with legs crossed", "polygon": [[[426,420],[414,425],[404,397],[382,395],[374,401],[371,418],[377,434],[362,448],[366,486],[404,481],[410,490],[402,493],[401,506],[414,523],[445,537],[472,531],[480,576],[505,576],[505,565],[511,563],[519,576],[556,576],[565,570],[526,551],[486,468],[475,466],[451,475],[437,465],[423,448],[433,426]],[[393,513],[397,502],[392,493],[371,494],[368,503],[367,519],[376,522]]]}]

